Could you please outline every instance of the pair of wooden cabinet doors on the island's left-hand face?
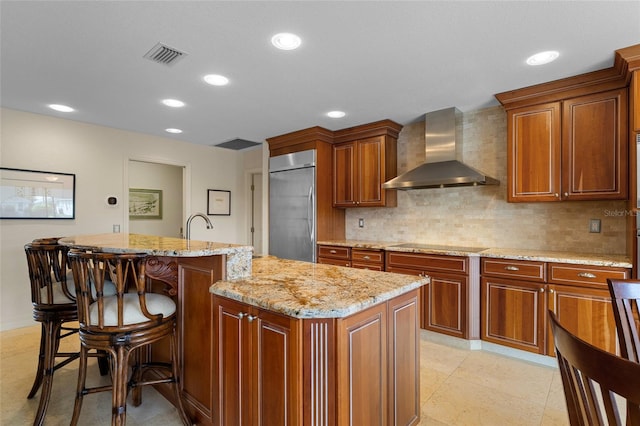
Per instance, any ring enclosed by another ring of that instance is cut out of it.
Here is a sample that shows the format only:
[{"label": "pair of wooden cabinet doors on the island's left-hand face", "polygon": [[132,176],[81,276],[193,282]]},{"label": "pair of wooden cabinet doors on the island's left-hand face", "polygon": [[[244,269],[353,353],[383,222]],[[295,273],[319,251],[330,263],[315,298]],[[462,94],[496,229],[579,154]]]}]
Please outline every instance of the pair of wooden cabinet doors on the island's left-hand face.
[{"label": "pair of wooden cabinet doors on the island's left-hand face", "polygon": [[217,425],[301,424],[301,322],[214,297]]}]

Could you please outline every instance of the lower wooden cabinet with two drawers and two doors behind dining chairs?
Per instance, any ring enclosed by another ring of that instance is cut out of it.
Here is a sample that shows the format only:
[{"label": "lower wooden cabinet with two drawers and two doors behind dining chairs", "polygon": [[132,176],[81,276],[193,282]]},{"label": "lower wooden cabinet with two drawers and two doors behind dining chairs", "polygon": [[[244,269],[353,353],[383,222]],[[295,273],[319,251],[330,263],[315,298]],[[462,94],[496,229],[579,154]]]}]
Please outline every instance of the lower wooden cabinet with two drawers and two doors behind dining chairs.
[{"label": "lower wooden cabinet with two drawers and two doors behind dining chairs", "polygon": [[626,268],[483,258],[482,339],[554,355],[548,310],[569,331],[618,353],[607,278],[629,278]]}]

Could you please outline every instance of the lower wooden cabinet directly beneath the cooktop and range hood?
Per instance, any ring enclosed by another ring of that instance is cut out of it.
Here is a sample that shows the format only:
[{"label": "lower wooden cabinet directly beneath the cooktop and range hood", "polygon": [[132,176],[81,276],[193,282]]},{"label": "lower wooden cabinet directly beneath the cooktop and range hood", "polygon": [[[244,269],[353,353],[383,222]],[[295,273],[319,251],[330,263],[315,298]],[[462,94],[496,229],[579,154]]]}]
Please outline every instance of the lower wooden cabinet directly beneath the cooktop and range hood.
[{"label": "lower wooden cabinet directly beneath the cooktop and range hood", "polygon": [[467,257],[391,251],[386,256],[387,272],[429,276],[422,287],[422,328],[469,338]]}]

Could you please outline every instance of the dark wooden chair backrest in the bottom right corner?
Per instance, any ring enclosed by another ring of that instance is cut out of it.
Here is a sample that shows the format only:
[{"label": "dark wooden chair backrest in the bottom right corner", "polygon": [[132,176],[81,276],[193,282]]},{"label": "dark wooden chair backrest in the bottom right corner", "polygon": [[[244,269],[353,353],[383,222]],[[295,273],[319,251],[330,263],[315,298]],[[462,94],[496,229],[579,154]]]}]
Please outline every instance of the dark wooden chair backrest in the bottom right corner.
[{"label": "dark wooden chair backrest in the bottom right corner", "polygon": [[552,311],[549,319],[571,425],[622,425],[626,418],[640,426],[640,364],[574,336]]}]

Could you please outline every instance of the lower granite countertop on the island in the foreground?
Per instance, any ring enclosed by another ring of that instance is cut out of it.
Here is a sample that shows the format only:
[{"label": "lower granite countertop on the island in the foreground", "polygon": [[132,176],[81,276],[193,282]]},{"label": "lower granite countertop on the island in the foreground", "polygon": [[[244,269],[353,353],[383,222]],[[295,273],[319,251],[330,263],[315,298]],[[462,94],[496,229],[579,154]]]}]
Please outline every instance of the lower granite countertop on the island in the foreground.
[{"label": "lower granite countertop on the island in the foreground", "polygon": [[279,259],[254,259],[249,278],[218,281],[213,294],[295,318],[342,318],[429,282],[411,275]]}]

